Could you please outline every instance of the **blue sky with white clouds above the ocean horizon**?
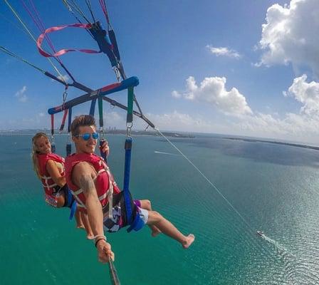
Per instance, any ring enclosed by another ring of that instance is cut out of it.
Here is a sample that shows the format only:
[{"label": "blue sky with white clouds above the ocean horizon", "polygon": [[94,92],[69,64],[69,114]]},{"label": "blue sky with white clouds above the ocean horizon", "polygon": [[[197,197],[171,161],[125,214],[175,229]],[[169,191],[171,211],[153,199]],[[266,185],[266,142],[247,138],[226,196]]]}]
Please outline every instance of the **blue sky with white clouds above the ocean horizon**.
[{"label": "blue sky with white clouds above the ocean horizon", "polygon": [[[34,32],[21,1],[9,1]],[[26,1],[28,2],[28,1]],[[33,0],[46,28],[73,24],[62,1]],[[85,1],[82,4],[85,9]],[[91,0],[97,19],[105,19]],[[142,110],[160,130],[248,135],[319,143],[319,1],[107,1],[127,76],[137,76]],[[0,45],[54,73],[4,2]],[[82,29],[51,35],[56,49],[92,48]],[[90,88],[116,78],[103,55],[61,57]],[[63,86],[0,53],[0,130],[49,128],[48,108]],[[65,75],[65,73],[63,73]],[[69,89],[68,99],[81,95]],[[125,93],[113,98],[125,102]],[[73,110],[88,113],[88,105]],[[105,103],[108,126],[125,128],[125,113]],[[57,121],[61,120],[57,116]],[[135,120],[135,128],[145,124]]]}]

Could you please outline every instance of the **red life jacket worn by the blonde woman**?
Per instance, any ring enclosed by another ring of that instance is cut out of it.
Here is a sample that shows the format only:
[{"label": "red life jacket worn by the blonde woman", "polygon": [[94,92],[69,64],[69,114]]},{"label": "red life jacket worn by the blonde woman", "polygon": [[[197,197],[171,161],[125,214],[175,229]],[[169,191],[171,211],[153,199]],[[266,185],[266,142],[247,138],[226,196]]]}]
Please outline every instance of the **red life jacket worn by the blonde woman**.
[{"label": "red life jacket worn by the blonde woman", "polygon": [[59,168],[61,176],[64,176],[64,158],[56,155],[55,153],[48,154],[38,154],[38,172],[41,176],[42,186],[45,192],[45,199],[48,204],[56,207],[56,193],[60,187],[53,181],[52,177],[49,175],[48,170],[46,170],[46,163],[48,160],[53,160],[55,162],[61,163],[62,169]]}]

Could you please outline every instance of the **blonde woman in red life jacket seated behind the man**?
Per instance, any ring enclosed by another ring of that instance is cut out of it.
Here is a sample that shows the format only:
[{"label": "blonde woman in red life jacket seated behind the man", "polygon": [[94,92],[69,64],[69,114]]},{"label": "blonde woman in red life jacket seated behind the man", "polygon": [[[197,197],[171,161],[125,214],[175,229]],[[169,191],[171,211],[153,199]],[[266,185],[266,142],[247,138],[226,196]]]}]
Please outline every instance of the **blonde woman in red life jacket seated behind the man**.
[{"label": "blonde woman in red life jacket seated behind the man", "polygon": [[[46,133],[36,133],[33,136],[32,160],[33,169],[43,185],[46,203],[56,208],[70,207],[71,212],[72,209],[74,211],[76,203],[66,185],[64,158],[51,152],[51,143]],[[76,209],[75,219],[77,227],[85,228],[87,238],[93,239],[87,215]]]}]

